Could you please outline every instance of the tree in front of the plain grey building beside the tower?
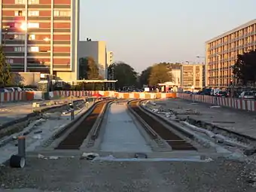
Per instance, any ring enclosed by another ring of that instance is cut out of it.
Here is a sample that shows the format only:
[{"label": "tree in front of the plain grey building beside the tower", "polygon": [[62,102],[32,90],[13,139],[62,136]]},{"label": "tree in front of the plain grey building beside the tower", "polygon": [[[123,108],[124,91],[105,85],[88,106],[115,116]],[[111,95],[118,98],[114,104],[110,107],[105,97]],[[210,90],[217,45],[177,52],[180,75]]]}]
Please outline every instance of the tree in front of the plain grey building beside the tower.
[{"label": "tree in front of the plain grey building beside the tower", "polygon": [[102,79],[99,75],[99,68],[90,56],[82,57],[79,59],[79,78],[80,79]]}]

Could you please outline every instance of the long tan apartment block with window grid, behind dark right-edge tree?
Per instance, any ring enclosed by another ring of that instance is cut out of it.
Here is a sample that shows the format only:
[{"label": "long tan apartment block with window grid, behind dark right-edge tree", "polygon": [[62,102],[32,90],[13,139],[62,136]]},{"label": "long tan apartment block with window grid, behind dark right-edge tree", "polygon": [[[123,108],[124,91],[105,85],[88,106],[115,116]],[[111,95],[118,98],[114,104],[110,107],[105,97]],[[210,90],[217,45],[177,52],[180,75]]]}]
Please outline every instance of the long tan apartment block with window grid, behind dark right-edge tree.
[{"label": "long tan apartment block with window grid, behind dark right-edge tree", "polygon": [[237,55],[256,46],[256,20],[206,41],[206,86],[230,87]]}]

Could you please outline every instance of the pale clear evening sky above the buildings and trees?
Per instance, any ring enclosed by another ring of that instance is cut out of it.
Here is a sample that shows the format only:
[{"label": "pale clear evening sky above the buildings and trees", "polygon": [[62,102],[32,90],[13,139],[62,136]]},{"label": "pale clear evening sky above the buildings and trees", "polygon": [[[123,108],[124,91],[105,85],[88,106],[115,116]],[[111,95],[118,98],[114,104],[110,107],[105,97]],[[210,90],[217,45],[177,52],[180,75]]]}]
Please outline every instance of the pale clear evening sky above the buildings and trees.
[{"label": "pale clear evening sky above the buildings and trees", "polygon": [[137,72],[203,62],[205,42],[256,19],[256,0],[81,0],[81,40],[106,41]]}]

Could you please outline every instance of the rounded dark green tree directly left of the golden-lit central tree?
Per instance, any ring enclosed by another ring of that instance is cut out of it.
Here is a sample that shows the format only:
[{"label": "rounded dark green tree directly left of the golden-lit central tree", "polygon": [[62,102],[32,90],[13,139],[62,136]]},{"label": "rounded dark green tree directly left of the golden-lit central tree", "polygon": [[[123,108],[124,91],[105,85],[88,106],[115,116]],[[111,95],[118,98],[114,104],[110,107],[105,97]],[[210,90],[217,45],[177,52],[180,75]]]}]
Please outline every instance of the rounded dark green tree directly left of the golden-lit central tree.
[{"label": "rounded dark green tree directly left of the golden-lit central tree", "polygon": [[114,80],[117,80],[117,88],[136,86],[137,73],[131,66],[125,62],[114,62],[108,68],[108,70],[112,69],[114,71]]}]

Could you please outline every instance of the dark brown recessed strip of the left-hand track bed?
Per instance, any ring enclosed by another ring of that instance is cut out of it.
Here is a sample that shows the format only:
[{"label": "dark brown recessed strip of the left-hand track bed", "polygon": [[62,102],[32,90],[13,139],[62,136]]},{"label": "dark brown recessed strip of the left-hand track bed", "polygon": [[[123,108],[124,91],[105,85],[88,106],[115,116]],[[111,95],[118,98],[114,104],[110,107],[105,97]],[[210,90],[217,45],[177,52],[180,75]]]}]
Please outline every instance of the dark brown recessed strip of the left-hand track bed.
[{"label": "dark brown recessed strip of the left-hand track bed", "polygon": [[63,139],[55,149],[79,149],[83,144],[84,139],[86,139],[90,133],[90,130],[96,122],[97,117],[99,117],[106,102],[109,101],[96,104],[93,111],[75,128],[75,130],[72,131],[72,133],[69,133],[69,136]]}]

